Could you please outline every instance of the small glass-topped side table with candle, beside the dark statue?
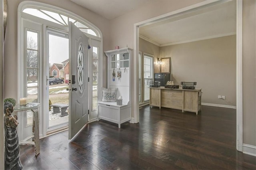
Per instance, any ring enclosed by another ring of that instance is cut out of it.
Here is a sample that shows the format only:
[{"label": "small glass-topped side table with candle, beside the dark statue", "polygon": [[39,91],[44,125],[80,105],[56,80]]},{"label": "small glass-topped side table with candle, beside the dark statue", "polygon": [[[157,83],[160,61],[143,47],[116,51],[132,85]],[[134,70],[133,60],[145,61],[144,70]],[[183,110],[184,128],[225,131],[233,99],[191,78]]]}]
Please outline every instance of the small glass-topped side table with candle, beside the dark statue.
[{"label": "small glass-topped side table with candle, beside the dark statue", "polygon": [[38,121],[38,107],[40,103],[28,103],[26,105],[15,105],[14,112],[28,111],[33,112],[33,127],[34,141],[22,141],[20,144],[32,144],[35,145],[36,156],[40,154],[40,143],[39,143],[39,121]]}]

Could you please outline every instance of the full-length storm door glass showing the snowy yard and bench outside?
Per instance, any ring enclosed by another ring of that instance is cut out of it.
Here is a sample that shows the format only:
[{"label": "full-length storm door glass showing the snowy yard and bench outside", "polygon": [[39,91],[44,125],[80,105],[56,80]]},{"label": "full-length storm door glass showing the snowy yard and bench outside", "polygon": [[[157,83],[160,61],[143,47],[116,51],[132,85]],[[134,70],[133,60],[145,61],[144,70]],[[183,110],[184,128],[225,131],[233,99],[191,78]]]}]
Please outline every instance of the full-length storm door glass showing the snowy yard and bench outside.
[{"label": "full-length storm door glass showing the snowy yard and bench outside", "polygon": [[[49,113],[47,132],[68,126],[69,49],[68,34],[47,30]],[[47,64],[46,63],[46,64]]]}]

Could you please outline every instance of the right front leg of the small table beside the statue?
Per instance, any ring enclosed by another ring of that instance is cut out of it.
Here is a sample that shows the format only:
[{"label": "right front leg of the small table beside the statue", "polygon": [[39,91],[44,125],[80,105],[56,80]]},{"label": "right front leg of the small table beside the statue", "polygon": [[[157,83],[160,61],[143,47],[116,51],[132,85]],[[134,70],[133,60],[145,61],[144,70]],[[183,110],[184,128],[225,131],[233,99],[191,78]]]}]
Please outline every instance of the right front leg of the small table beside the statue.
[{"label": "right front leg of the small table beside the statue", "polygon": [[38,154],[40,154],[38,110],[32,109],[32,112],[33,112],[33,131],[34,131],[34,140],[35,140],[35,152],[37,156]]}]

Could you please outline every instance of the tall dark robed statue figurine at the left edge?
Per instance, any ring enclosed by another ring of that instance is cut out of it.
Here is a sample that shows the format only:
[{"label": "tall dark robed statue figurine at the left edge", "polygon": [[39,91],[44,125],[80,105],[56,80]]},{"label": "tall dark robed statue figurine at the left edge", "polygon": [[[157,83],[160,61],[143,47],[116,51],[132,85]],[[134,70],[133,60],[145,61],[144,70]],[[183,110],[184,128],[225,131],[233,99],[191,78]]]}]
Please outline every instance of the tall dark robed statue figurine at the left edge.
[{"label": "tall dark robed statue figurine at the left edge", "polygon": [[10,102],[4,103],[4,133],[5,133],[5,152],[4,152],[4,169],[21,170],[20,146],[17,134],[18,117],[12,115],[14,111]]}]

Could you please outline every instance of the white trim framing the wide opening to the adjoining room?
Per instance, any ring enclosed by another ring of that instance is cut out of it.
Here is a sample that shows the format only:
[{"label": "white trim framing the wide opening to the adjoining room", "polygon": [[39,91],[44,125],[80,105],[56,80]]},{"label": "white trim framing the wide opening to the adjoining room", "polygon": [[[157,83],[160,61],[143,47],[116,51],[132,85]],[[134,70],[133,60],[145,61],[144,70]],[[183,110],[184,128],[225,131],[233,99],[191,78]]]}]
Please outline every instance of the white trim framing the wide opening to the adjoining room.
[{"label": "white trim framing the wide opening to the adjoining room", "polygon": [[[173,12],[169,12],[167,14],[163,14],[161,16],[157,16],[155,18],[151,18],[139,23],[134,24],[134,56],[139,55],[139,29],[142,26],[147,26],[149,24],[154,24],[159,21],[167,20],[168,18],[180,16],[180,14],[185,12],[192,12],[198,8],[204,8],[206,6],[212,6],[218,3],[225,3],[226,1],[217,1],[210,2],[204,1],[198,4],[194,4],[192,6],[188,6],[186,8],[182,8]],[[134,65],[137,65],[137,61],[134,61]],[[134,77],[138,76],[138,65],[135,67]],[[137,81],[137,79],[135,79]],[[137,87],[139,82],[134,83]],[[243,150],[243,131],[242,131],[242,115],[243,115],[243,105],[242,105],[242,1],[236,1],[236,148],[239,151]],[[137,90],[134,91],[134,96],[137,95]],[[139,122],[139,107],[136,105],[137,99],[134,98],[134,123]]]}]

